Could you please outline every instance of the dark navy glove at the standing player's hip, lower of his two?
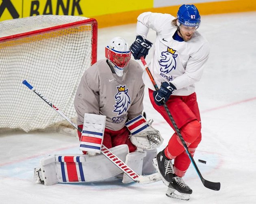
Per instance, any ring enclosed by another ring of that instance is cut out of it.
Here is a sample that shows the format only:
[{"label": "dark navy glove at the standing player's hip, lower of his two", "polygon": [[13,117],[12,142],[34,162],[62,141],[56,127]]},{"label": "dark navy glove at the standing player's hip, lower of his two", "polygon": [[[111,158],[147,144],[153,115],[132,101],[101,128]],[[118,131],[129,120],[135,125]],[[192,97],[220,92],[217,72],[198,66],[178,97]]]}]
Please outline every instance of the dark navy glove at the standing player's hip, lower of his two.
[{"label": "dark navy glove at the standing player's hip, lower of his two", "polygon": [[163,82],[159,90],[153,92],[156,105],[163,105],[163,100],[167,102],[174,90],[176,90],[176,87],[171,82]]}]

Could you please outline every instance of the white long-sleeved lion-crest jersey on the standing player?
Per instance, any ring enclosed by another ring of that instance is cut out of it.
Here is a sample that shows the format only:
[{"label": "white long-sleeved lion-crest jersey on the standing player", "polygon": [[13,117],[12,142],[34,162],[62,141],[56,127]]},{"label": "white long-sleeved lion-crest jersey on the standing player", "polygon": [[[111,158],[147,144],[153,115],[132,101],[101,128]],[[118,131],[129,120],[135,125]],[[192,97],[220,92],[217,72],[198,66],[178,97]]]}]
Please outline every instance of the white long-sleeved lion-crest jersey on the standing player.
[{"label": "white long-sleeved lion-crest jersey on the standing player", "polygon": [[[171,24],[173,19],[175,17],[170,14],[142,13],[138,17],[137,35],[147,38],[149,28],[156,31],[156,42],[149,66],[156,84],[160,88],[161,82],[171,82],[177,88],[173,95],[187,96],[195,92],[195,82],[202,76],[210,47],[197,31],[187,42],[174,40],[177,27]],[[143,81],[154,90],[145,71]]]}]

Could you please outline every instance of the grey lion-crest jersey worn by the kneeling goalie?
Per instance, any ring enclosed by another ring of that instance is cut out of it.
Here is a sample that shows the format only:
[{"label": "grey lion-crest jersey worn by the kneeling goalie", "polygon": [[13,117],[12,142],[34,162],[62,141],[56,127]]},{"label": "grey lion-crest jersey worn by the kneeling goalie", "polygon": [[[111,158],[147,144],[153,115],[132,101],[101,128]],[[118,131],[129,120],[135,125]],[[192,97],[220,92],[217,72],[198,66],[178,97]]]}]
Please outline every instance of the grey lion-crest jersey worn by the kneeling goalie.
[{"label": "grey lion-crest jersey worn by the kneeling goalie", "polygon": [[134,60],[126,65],[123,76],[113,73],[107,60],[99,60],[81,78],[74,101],[77,124],[84,114],[106,116],[106,128],[117,131],[143,110],[143,69]]}]

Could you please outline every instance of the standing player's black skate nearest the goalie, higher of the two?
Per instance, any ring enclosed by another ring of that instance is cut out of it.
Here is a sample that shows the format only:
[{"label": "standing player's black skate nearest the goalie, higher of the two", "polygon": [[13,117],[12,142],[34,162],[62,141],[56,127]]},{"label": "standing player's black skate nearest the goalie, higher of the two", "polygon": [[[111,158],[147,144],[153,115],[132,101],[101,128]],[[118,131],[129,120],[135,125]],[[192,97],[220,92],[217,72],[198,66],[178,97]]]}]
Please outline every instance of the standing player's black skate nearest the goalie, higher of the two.
[{"label": "standing player's black skate nearest the goalie, higher of the two", "polygon": [[154,167],[158,174],[160,174],[163,183],[165,185],[169,185],[172,182],[172,178],[174,177],[174,168],[171,163],[171,159],[168,159],[165,156],[165,151],[161,151],[157,154],[156,158],[153,159]]}]

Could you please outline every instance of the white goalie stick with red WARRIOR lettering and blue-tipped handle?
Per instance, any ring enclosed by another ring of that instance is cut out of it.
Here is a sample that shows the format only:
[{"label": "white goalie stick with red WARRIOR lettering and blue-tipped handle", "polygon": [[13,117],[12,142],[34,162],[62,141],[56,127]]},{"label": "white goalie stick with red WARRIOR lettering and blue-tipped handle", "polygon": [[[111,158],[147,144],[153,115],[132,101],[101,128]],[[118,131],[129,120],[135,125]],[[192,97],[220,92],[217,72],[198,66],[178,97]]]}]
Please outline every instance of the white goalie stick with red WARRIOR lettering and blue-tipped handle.
[{"label": "white goalie stick with red WARRIOR lettering and blue-tipped handle", "polygon": [[[45,101],[50,107],[52,107],[58,114],[60,114],[63,118],[67,120],[74,128],[78,131],[82,132],[82,129],[79,128],[76,123],[70,120],[63,112],[61,112],[55,105],[53,105],[46,97],[44,97],[39,91],[35,90],[33,86],[31,86],[26,80],[22,82],[22,84],[26,85],[30,90],[32,90],[35,94],[37,94],[43,101]],[[114,155],[106,146],[102,144],[101,148],[102,154],[109,159],[113,164],[115,164],[122,172],[124,172],[127,176],[129,176],[132,180],[140,184],[153,183],[158,180],[161,180],[158,173],[154,173],[148,176],[141,176],[133,171],[126,163],[121,161],[116,155]]]}]

